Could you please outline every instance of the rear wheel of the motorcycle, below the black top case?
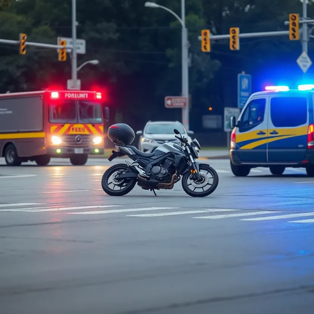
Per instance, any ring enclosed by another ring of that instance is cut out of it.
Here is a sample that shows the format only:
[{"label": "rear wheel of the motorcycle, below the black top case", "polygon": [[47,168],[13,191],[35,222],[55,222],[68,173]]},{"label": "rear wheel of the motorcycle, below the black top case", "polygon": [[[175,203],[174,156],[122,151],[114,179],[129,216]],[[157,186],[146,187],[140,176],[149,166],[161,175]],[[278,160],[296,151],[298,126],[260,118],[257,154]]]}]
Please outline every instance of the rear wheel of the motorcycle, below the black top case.
[{"label": "rear wheel of the motorcycle, below the black top case", "polygon": [[136,184],[136,178],[117,179],[116,177],[127,172],[128,167],[125,164],[117,164],[107,169],[101,179],[102,189],[110,196],[122,196],[133,190]]}]

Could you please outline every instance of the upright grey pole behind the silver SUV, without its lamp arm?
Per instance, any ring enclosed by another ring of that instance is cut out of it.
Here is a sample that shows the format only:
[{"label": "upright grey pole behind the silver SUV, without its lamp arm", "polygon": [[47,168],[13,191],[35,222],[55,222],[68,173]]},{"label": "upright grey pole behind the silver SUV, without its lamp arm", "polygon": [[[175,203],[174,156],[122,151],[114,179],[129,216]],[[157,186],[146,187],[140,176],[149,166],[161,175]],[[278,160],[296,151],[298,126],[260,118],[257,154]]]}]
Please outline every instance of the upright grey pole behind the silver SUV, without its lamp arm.
[{"label": "upright grey pole behind the silver SUV, without its lamp arm", "polygon": [[185,25],[185,0],[181,0],[181,20],[182,20],[182,96],[187,97],[187,106],[182,108],[182,124],[189,131],[189,41],[188,31]]}]

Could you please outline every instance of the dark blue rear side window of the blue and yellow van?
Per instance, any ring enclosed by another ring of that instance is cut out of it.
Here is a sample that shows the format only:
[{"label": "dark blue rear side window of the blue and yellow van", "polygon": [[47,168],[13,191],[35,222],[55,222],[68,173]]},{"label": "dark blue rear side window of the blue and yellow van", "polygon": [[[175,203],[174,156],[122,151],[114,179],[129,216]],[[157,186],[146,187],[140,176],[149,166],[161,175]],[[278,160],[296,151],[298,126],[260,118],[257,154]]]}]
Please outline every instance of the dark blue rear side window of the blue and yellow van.
[{"label": "dark blue rear side window of the blue and yellow van", "polygon": [[270,117],[274,127],[298,127],[307,122],[306,97],[273,97]]}]

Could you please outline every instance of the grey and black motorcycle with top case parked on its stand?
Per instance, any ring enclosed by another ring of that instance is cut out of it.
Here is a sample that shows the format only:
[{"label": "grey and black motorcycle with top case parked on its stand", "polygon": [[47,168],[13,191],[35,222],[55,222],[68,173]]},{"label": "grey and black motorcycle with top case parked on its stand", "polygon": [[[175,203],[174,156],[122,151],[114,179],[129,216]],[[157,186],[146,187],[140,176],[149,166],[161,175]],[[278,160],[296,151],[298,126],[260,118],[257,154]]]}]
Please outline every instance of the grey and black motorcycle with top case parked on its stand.
[{"label": "grey and black motorcycle with top case parked on its stand", "polygon": [[[116,135],[119,128],[120,138]],[[183,190],[192,197],[205,197],[213,193],[218,186],[219,177],[210,165],[196,162],[200,144],[196,139],[189,143],[177,129],[173,132],[179,143],[164,143],[153,153],[143,153],[134,146],[126,145],[127,142],[132,143],[135,138],[134,131],[129,126],[111,126],[108,129],[108,137],[116,144],[117,150],[112,150],[108,160],[127,156],[133,162],[125,160],[126,164],[113,165],[107,169],[101,180],[103,190],[111,196],[122,196],[131,192],[137,183],[142,189],[153,191],[156,196],[155,190],[171,190],[181,180]],[[114,136],[111,133],[114,133]],[[130,134],[133,138],[131,140]],[[205,189],[206,187],[208,188]]]}]

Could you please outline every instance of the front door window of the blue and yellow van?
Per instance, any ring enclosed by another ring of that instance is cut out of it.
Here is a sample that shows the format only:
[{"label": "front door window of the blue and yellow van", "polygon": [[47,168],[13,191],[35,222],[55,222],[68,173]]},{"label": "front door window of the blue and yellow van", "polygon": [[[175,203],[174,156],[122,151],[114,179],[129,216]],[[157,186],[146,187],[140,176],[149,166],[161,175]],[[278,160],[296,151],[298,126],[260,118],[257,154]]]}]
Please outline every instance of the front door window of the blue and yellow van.
[{"label": "front door window of the blue and yellow van", "polygon": [[246,132],[264,121],[266,99],[251,100],[241,116],[239,131]]}]

